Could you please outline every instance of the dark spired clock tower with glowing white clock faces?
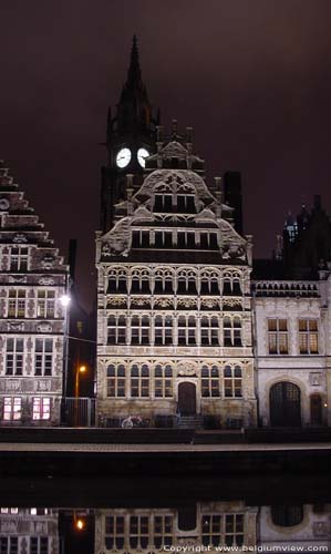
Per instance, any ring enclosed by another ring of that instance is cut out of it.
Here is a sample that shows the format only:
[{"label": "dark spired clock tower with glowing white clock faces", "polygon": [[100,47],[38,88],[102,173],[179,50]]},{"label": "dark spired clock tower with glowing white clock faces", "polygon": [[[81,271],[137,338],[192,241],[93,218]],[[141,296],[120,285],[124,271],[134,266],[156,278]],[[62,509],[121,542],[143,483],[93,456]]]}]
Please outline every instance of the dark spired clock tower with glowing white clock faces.
[{"label": "dark spired clock tower with glowing white clock faces", "polygon": [[130,68],[115,116],[108,110],[106,148],[107,165],[102,167],[101,228],[113,225],[114,205],[126,198],[127,174],[133,174],[133,189],[143,182],[145,158],[156,151],[156,127],[146,88],[142,81],[136,37],[133,38]]}]

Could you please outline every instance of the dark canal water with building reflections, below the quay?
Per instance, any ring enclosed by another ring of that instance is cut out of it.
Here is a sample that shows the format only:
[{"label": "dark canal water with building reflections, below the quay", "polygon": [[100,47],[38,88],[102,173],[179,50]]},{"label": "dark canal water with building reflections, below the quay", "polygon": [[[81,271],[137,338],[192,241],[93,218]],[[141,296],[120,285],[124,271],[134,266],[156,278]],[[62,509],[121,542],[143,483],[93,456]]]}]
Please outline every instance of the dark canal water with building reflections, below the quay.
[{"label": "dark canal water with building reflections, below the quay", "polygon": [[0,554],[331,552],[327,475],[0,479]]}]

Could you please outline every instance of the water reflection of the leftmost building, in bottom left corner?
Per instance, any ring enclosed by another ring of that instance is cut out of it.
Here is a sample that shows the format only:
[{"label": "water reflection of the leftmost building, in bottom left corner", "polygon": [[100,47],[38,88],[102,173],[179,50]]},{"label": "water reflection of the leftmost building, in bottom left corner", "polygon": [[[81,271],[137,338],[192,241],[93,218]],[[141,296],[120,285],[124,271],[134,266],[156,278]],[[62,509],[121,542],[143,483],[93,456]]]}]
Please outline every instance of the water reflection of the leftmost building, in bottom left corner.
[{"label": "water reflection of the leftmost building, in bottom left corner", "polygon": [[58,554],[59,512],[48,507],[1,507],[1,554]]}]

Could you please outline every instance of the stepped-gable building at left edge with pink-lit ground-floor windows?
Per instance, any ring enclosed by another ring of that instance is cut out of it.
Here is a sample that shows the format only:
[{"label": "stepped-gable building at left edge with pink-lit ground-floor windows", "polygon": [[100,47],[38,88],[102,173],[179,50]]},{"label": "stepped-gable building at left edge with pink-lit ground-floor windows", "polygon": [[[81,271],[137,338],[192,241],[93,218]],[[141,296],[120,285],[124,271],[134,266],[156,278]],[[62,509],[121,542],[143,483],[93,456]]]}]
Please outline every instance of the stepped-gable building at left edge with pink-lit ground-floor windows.
[{"label": "stepped-gable building at left edge with pink-lit ground-floor windows", "polygon": [[59,424],[68,267],[0,163],[1,424]]}]

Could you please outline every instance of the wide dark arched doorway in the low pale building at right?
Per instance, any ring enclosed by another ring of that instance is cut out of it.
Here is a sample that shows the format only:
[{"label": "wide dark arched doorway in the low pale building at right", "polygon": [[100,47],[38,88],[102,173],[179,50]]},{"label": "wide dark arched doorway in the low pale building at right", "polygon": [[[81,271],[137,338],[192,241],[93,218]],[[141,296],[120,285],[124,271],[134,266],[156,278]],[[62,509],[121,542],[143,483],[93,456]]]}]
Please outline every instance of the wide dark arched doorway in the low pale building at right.
[{"label": "wide dark arched doorway in the low pale building at right", "polygon": [[272,427],[301,427],[300,389],[281,381],[270,389],[270,423]]}]

